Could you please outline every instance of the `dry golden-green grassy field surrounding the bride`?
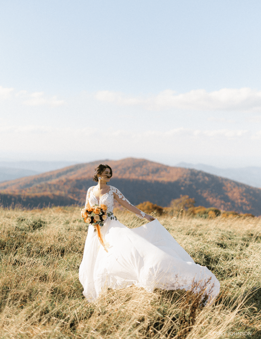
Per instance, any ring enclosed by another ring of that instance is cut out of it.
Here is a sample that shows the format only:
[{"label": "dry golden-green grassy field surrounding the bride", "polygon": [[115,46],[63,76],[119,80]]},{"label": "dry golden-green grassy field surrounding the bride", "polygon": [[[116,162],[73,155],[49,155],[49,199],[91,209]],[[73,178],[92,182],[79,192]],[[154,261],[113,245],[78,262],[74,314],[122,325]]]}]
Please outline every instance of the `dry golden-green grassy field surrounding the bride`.
[{"label": "dry golden-green grassy field surrounding the bride", "polygon": [[[117,212],[128,227],[144,222]],[[78,281],[87,230],[78,218],[79,207],[0,209],[1,339],[261,338],[261,219],[158,218],[221,282],[215,304],[201,307],[184,291],[133,286],[88,303]]]}]

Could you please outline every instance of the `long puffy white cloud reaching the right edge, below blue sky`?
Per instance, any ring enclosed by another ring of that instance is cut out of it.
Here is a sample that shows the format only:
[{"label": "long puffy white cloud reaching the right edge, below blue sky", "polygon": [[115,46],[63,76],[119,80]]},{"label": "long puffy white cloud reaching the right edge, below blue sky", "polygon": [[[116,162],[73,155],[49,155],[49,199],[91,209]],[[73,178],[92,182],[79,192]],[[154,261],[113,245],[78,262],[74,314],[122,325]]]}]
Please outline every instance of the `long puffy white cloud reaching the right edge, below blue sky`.
[{"label": "long puffy white cloud reaching the right edge, below blue sky", "polygon": [[261,112],[261,91],[251,88],[222,88],[210,93],[205,89],[195,89],[182,94],[176,94],[175,91],[166,89],[147,98],[131,97],[121,92],[100,91],[95,94],[95,98],[117,105],[143,105],[150,110],[179,108],[204,111]]}]

